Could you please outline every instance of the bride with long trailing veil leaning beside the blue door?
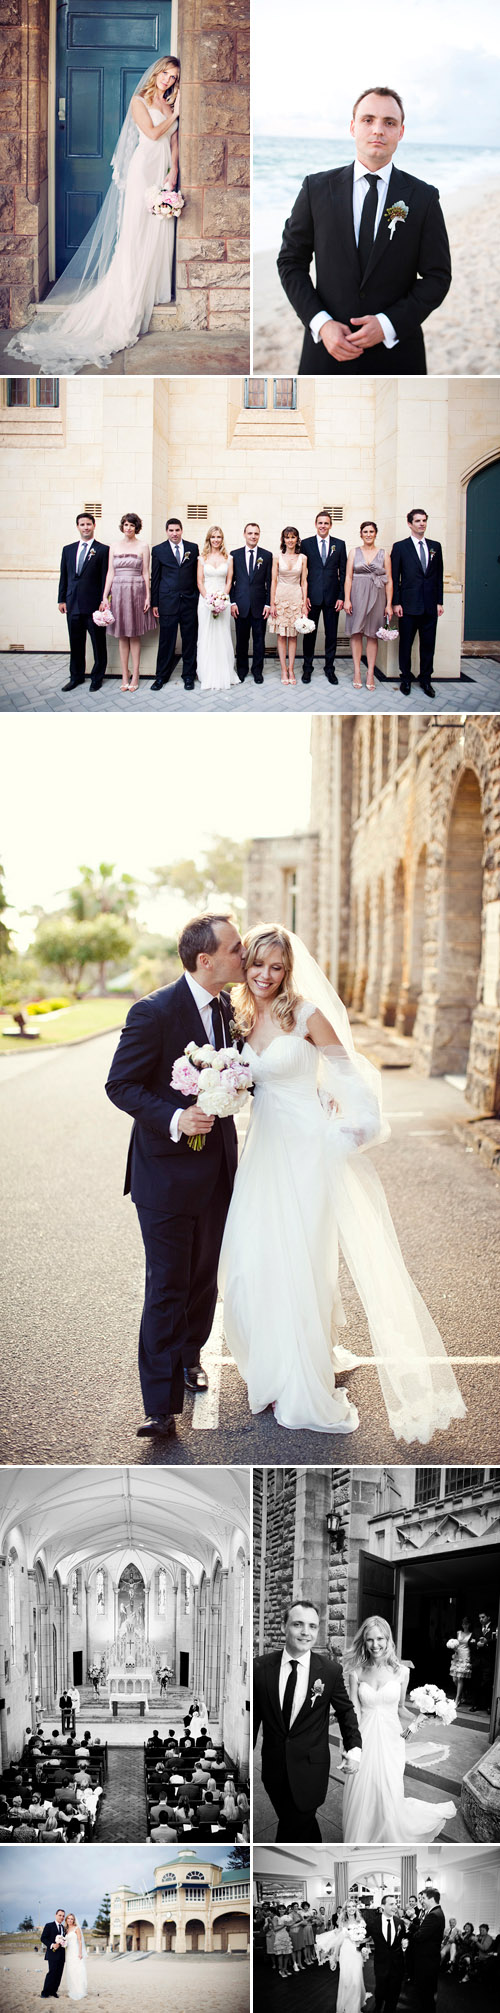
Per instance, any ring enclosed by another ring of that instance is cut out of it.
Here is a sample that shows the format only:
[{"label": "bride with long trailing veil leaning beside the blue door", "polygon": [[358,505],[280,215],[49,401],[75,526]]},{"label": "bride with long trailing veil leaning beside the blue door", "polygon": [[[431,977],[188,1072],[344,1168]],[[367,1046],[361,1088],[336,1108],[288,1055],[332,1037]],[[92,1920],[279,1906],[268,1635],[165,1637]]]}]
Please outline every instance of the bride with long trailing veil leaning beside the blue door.
[{"label": "bride with long trailing veil leaning beside the blue door", "polygon": [[[171,298],[173,219],[147,209],[147,189],[175,189],[179,58],[159,56],[133,93],[97,223],[34,318],[10,344],[38,372],[107,364],[147,334],[155,302]],[[177,109],[175,109],[177,107]]]}]

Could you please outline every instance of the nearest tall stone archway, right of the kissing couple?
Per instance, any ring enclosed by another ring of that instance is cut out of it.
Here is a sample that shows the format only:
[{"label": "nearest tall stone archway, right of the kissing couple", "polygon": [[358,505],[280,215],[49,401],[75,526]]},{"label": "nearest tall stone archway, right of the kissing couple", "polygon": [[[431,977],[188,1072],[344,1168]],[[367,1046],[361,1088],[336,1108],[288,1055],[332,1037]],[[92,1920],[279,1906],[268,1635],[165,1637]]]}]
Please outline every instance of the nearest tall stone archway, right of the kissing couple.
[{"label": "nearest tall stone archway, right of the kissing couple", "polygon": [[450,817],[442,890],[438,1073],[466,1075],[472,1015],[482,960],[482,797],[474,769],[464,769]]}]

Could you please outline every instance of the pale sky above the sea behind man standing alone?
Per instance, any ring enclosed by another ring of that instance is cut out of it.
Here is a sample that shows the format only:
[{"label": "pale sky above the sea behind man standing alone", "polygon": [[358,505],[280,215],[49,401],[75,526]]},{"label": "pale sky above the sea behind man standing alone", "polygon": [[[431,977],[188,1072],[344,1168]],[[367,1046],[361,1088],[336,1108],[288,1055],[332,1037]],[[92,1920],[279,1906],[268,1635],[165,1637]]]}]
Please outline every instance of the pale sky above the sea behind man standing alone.
[{"label": "pale sky above the sea behind man standing alone", "polygon": [[413,143],[500,145],[498,0],[252,0],[252,50],[256,133],[349,141],[353,103],[377,81],[401,93]]}]

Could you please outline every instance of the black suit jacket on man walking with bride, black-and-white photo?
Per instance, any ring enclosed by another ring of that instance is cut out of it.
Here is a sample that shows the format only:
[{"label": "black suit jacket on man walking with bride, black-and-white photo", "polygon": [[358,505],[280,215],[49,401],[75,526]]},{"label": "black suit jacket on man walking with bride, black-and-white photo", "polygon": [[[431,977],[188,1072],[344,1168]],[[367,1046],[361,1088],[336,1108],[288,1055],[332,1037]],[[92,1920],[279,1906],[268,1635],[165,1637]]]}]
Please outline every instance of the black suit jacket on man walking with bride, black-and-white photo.
[{"label": "black suit jacket on man walking with bride, black-and-white photo", "polygon": [[[310,1651],[306,1699],[286,1733],[280,1709],[282,1651],[272,1649],[254,1665],[254,1741],[262,1725],[262,1782],[276,1806],[288,1788],[296,1810],[317,1810],[325,1802],[331,1771],[329,1719],[337,1713],[345,1747],[361,1747],[355,1707],[345,1689],[341,1665]],[[315,1685],[323,1685],[310,1705]]]}]

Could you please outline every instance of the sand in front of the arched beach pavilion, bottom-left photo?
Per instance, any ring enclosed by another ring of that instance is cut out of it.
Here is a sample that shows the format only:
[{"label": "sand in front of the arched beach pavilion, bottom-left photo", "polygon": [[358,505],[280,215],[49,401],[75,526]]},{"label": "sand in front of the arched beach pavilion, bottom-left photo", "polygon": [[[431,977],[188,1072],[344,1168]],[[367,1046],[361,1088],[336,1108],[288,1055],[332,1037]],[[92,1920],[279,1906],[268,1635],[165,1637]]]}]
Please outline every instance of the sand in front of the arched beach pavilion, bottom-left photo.
[{"label": "sand in front of the arched beach pavilion, bottom-left photo", "polygon": [[[2,1951],[0,2005],[2,2013],[26,2013],[40,2005],[46,1977],[44,1961],[32,1951]],[[85,2013],[190,2013],[204,2003],[204,2013],[248,2013],[250,1965],[246,1959],[218,1957],[95,1957],[89,1955],[89,1993]],[[48,1999],[50,2007],[54,2001]],[[58,1991],[62,2007],[73,2005]]]}]

